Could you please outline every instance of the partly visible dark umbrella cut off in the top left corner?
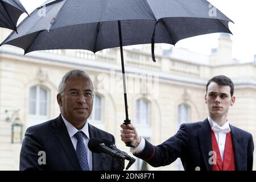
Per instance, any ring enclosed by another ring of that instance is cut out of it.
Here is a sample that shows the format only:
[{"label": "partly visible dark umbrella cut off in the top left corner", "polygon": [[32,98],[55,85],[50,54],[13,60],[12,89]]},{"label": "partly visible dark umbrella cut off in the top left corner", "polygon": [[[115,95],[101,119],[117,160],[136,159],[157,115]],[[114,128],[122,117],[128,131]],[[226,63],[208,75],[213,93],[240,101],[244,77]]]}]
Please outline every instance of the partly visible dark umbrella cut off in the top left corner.
[{"label": "partly visible dark umbrella cut off in the top left corner", "polygon": [[19,0],[0,0],[0,27],[17,31],[19,16],[27,13]]}]

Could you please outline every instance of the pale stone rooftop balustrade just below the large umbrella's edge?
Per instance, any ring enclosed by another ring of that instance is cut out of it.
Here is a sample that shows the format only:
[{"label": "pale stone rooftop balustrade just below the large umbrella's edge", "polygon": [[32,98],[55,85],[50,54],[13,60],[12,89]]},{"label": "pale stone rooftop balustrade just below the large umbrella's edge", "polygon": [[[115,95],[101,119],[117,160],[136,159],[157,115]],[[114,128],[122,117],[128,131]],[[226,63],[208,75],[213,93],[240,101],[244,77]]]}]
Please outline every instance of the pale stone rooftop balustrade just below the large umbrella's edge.
[{"label": "pale stone rooftop balustrade just below the large umbrella's edge", "polygon": [[[86,50],[47,50],[47,53],[54,53],[56,55],[74,56],[79,59],[99,61],[102,63],[119,64],[120,51],[119,48],[104,49],[95,54]],[[156,63],[152,61],[151,53],[145,53],[139,50],[123,49],[123,56],[125,65],[134,68],[148,69],[150,71],[167,72],[180,76],[200,77],[203,65],[191,63],[189,61],[172,59],[171,57],[164,57],[156,55]],[[163,60],[168,64],[163,64]]]}]

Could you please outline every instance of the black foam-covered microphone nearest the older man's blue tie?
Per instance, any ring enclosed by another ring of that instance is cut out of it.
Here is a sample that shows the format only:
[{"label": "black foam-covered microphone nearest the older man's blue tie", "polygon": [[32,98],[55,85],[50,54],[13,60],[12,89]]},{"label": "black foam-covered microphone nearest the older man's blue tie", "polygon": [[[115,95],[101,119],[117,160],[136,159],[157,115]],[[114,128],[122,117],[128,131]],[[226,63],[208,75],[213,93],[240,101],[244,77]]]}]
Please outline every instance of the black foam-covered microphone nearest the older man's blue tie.
[{"label": "black foam-covered microphone nearest the older man's blue tie", "polygon": [[123,156],[119,152],[114,151],[111,148],[105,146],[103,140],[101,140],[99,138],[90,139],[89,142],[88,142],[88,148],[89,148],[90,151],[92,151],[94,153],[103,152],[105,154],[109,154],[113,158],[125,160],[125,156]]}]

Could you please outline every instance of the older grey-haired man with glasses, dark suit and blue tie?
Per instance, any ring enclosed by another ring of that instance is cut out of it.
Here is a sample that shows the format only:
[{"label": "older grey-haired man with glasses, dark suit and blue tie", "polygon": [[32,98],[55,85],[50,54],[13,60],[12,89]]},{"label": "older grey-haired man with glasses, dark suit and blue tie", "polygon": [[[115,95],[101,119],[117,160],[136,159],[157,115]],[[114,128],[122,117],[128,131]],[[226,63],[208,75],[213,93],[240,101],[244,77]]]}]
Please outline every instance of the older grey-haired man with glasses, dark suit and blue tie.
[{"label": "older grey-haired man with glasses, dark suit and blue tie", "polygon": [[93,84],[87,73],[67,72],[59,84],[57,102],[59,117],[27,129],[20,170],[118,170],[111,156],[88,150],[90,138],[115,139],[87,122],[93,108]]}]

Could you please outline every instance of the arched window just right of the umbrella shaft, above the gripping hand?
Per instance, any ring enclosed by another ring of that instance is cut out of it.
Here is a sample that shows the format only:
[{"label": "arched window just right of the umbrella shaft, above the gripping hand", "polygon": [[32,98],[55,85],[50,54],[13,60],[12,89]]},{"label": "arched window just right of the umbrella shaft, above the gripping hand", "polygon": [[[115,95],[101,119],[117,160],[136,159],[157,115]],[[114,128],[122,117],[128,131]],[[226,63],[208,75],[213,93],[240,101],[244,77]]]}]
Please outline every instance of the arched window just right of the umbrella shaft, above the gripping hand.
[{"label": "arched window just right of the umbrella shaft, above the gripping hand", "polygon": [[141,98],[136,101],[136,118],[137,126],[150,126],[150,103]]}]

